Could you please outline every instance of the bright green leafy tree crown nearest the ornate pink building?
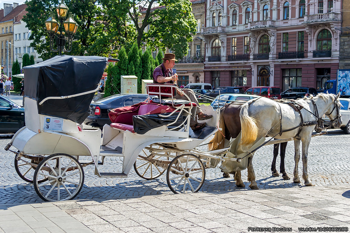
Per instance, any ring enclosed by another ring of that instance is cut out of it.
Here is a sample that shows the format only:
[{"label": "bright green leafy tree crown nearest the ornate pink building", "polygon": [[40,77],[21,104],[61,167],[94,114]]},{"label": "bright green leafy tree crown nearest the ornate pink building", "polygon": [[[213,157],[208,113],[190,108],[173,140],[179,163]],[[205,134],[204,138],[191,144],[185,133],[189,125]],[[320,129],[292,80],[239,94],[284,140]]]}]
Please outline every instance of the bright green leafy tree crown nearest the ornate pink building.
[{"label": "bright green leafy tree crown nearest the ornate pink building", "polygon": [[[163,7],[155,8],[155,3]],[[177,57],[187,54],[197,24],[189,0],[134,0],[127,8],[137,31],[138,46],[146,42],[153,48],[172,48]],[[150,27],[145,32],[147,26]]]}]

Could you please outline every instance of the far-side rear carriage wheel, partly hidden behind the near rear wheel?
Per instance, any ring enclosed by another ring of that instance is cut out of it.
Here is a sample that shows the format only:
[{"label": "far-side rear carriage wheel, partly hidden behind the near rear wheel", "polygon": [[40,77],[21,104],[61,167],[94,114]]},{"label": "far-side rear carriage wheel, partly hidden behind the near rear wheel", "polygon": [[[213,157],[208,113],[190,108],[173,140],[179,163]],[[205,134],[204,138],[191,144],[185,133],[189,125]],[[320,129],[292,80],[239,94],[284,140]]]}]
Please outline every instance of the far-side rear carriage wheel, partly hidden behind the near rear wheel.
[{"label": "far-side rear carriage wheel, partly hidden behind the near rear wheel", "polygon": [[[38,157],[38,159],[31,159],[31,158],[25,158],[24,156],[22,156],[20,160],[17,160],[17,156],[18,154],[15,156],[15,162],[14,162],[15,170],[17,174],[19,175],[19,177],[21,177],[22,180],[28,183],[33,183],[33,176],[34,176],[35,169],[37,165],[44,159],[44,157]],[[48,178],[46,177],[46,178],[43,178],[42,180],[38,180],[38,183],[47,181],[47,179]]]}]

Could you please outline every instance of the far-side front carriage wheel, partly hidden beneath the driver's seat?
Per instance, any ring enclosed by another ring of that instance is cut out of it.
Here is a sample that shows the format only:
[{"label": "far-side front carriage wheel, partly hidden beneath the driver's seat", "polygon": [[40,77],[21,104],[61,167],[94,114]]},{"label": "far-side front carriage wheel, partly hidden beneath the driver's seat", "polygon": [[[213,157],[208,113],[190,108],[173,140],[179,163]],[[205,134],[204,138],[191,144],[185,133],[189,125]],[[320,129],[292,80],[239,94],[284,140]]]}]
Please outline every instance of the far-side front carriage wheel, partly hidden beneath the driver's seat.
[{"label": "far-side front carriage wheel, partly hidden beneath the driver's seat", "polygon": [[[147,156],[151,154],[152,150],[160,150],[164,147],[152,144],[149,147],[146,147],[142,149],[139,156],[137,157],[135,163],[134,163],[134,170],[138,176],[141,178],[144,178],[146,180],[153,180],[161,176],[166,168],[160,167],[155,165],[154,163],[147,160]],[[162,153],[164,155],[162,155]],[[169,160],[169,157],[166,156],[168,152],[160,152],[160,154],[155,155],[152,159],[153,160]]]}]

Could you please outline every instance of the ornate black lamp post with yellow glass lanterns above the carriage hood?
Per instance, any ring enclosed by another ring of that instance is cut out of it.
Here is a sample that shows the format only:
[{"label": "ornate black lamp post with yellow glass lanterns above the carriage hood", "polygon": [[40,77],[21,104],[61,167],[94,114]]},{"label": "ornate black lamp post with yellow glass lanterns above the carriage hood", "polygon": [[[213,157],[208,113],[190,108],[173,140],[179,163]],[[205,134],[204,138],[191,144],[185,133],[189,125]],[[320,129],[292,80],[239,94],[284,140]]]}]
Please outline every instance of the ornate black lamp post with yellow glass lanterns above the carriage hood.
[{"label": "ornate black lamp post with yellow glass lanterns above the carriage hood", "polygon": [[[62,51],[72,51],[72,39],[78,29],[78,24],[72,18],[71,12],[68,13],[68,18],[64,20],[66,18],[67,12],[68,7],[64,4],[64,1],[61,0],[61,4],[56,8],[58,21],[55,19],[55,14],[53,12],[45,21],[45,27],[49,32],[50,37],[50,50],[53,52],[58,52],[60,56],[62,55]],[[57,49],[54,49],[55,38]],[[68,44],[68,49],[65,49],[66,44]]]}]

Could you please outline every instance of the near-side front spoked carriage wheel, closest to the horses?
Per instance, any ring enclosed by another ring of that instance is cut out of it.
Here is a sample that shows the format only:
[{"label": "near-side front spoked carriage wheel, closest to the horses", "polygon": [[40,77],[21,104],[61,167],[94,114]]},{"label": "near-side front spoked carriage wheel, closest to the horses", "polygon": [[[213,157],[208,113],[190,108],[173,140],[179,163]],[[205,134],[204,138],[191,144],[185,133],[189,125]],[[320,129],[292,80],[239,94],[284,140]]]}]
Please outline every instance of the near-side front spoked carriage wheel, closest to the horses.
[{"label": "near-side front spoked carriage wheel, closest to the horses", "polygon": [[194,154],[181,154],[169,164],[167,183],[175,194],[198,192],[204,180],[203,162]]}]

